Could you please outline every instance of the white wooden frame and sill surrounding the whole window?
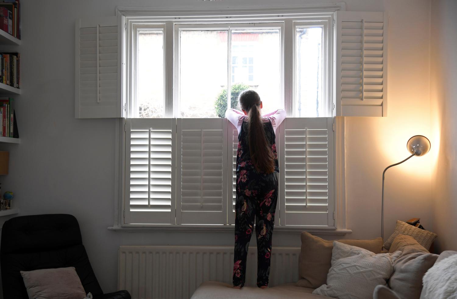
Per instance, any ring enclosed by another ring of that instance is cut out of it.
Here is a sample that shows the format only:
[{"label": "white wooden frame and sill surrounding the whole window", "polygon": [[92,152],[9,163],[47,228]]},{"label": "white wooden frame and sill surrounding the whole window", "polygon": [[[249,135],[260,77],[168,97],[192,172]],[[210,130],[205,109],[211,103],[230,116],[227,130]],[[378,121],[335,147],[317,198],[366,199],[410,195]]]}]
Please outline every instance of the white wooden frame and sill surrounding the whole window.
[{"label": "white wooden frame and sill surrounding the whole window", "polygon": [[[292,39],[292,41],[295,41],[295,28],[293,27],[293,22],[294,19],[299,19],[301,21],[312,21],[317,19],[327,19],[329,20],[329,43],[328,43],[328,48],[329,48],[329,56],[331,59],[329,60],[330,63],[328,63],[328,68],[330,70],[330,74],[325,76],[326,79],[330,81],[328,84],[328,90],[329,90],[329,95],[328,98],[332,99],[332,101],[335,101],[335,97],[333,96],[333,84],[334,84],[334,67],[332,67],[332,64],[335,63],[334,60],[334,47],[335,47],[335,14],[337,10],[345,10],[345,5],[344,3],[334,3],[331,5],[308,5],[310,6],[309,8],[302,9],[303,13],[296,13],[296,11],[300,11],[297,8],[286,8],[286,9],[264,9],[262,10],[264,12],[264,15],[262,14],[256,14],[253,16],[247,15],[245,13],[239,13],[237,11],[236,13],[228,13],[228,12],[222,12],[222,13],[214,13],[213,10],[207,10],[206,12],[199,12],[196,13],[193,10],[162,10],[162,9],[135,9],[135,8],[126,8],[126,7],[117,7],[117,14],[119,16],[120,24],[125,25],[125,30],[128,32],[131,30],[132,26],[134,24],[157,24],[159,22],[162,22],[165,24],[165,42],[164,46],[168,48],[173,47],[173,24],[172,22],[166,22],[169,21],[170,19],[185,19],[185,17],[164,17],[164,16],[170,16],[170,15],[181,15],[184,12],[184,15],[189,16],[189,15],[194,15],[191,17],[187,17],[189,20],[197,21],[197,22],[202,22],[202,21],[207,21],[208,20],[208,15],[210,15],[213,19],[214,18],[219,18],[219,19],[227,19],[227,18],[233,18],[232,20],[277,20],[277,17],[282,17],[284,20],[284,32],[282,33],[282,36],[289,36],[289,39]],[[312,7],[311,7],[312,6]],[[321,10],[321,12],[316,12],[316,10]],[[257,11],[257,9],[256,9]],[[279,13],[286,12],[284,15],[278,15]],[[274,18],[271,19],[271,16]],[[224,20],[225,21],[225,20]],[[212,21],[214,22],[214,21]],[[171,26],[170,26],[171,25]],[[333,29],[332,29],[333,28]],[[288,30],[290,29],[290,30]],[[125,94],[127,98],[131,99],[132,96],[132,80],[131,80],[131,66],[133,65],[132,62],[132,55],[129,53],[132,52],[132,37],[131,35],[123,34],[123,48],[124,48],[124,66],[123,69],[125,70],[124,73],[124,87],[125,87]],[[127,37],[126,37],[127,35]],[[127,42],[127,45],[125,45],[125,42]],[[286,52],[286,48],[290,48],[292,45],[289,43],[287,44],[286,42],[282,43],[282,50],[283,52]],[[288,49],[290,50],[290,49]],[[283,68],[288,69],[289,71],[283,72],[282,73],[282,83],[283,82],[292,82],[292,58],[294,56],[291,56],[290,59],[284,58],[282,61]],[[167,66],[173,65],[173,55],[167,55],[167,51],[164,51],[164,68],[165,71],[167,69]],[[229,76],[228,80],[231,81],[231,69],[228,68],[229,71]],[[173,117],[174,116],[174,108],[173,106],[170,107],[170,105],[167,105],[170,99],[170,95],[173,95],[173,80],[169,80],[169,76],[165,75],[165,115],[164,117]],[[288,116],[292,116],[291,114],[293,113],[292,109],[292,104],[293,104],[293,93],[292,93],[292,84],[282,84],[282,95],[284,98],[287,96],[289,97],[289,101],[283,100],[283,103],[285,105],[285,109],[287,111]],[[174,96],[172,96],[174,99]],[[167,101],[168,100],[168,101]],[[124,102],[125,103],[125,102]],[[132,103],[132,101],[128,101],[128,103]],[[132,109],[131,105],[127,105],[126,110],[126,116],[130,116],[130,111]],[[335,102],[333,102],[333,115],[335,115]],[[332,234],[332,235],[344,235],[346,233],[351,233],[351,230],[345,229],[345,194],[344,194],[344,120],[339,120],[337,121],[335,119],[335,123],[337,126],[337,130],[335,131],[340,131],[342,134],[338,136],[335,134],[335,149],[341,149],[338,151],[335,151],[335,160],[339,159],[340,157],[342,158],[341,161],[343,161],[343,164],[340,164],[338,166],[338,163],[335,163],[335,167],[338,169],[335,169],[335,189],[342,189],[342,193],[337,193],[335,194],[335,214],[336,214],[336,220],[335,220],[335,228],[311,228],[311,227],[292,227],[292,226],[287,226],[287,227],[279,227],[280,231],[283,232],[297,232],[297,231],[310,231],[310,232],[316,232],[316,233],[321,233],[321,234]],[[115,176],[117,178],[117,181],[123,182],[123,176],[125,175],[125,161],[123,160],[124,155],[121,153],[125,152],[125,121],[123,119],[118,119],[117,120],[117,139],[119,142],[117,144],[119,145],[116,148],[116,161],[122,161],[119,167],[116,168],[116,173]],[[338,138],[337,138],[338,136]],[[336,157],[338,155],[338,158]],[[339,183],[337,182],[337,178],[339,179]],[[337,184],[338,183],[338,184]],[[343,183],[343,188],[341,188],[341,183]],[[227,231],[227,229],[232,230],[232,226],[206,226],[206,225],[154,225],[154,226],[143,226],[143,225],[125,225],[123,224],[123,215],[122,215],[122,209],[124,206],[125,198],[123,196],[124,193],[124,186],[123,184],[120,184],[119,187],[116,188],[116,197],[120,198],[118,205],[116,206],[115,209],[115,222],[114,226],[109,227],[109,230],[113,231]],[[124,212],[125,213],[125,212]]]}]

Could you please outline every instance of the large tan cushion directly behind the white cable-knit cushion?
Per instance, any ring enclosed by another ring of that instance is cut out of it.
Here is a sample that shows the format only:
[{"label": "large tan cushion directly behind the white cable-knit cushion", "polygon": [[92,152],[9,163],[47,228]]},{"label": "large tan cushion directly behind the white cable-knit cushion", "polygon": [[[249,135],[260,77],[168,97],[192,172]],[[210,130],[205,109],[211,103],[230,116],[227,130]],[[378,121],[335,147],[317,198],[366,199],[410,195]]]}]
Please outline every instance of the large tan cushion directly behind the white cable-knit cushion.
[{"label": "large tan cushion directly behind the white cable-knit cushion", "polygon": [[[331,266],[333,241],[327,241],[303,231],[301,235],[302,249],[298,257],[300,280],[298,287],[319,288],[327,281],[327,273]],[[361,247],[374,253],[380,253],[383,239],[372,240],[338,240],[341,243]]]}]

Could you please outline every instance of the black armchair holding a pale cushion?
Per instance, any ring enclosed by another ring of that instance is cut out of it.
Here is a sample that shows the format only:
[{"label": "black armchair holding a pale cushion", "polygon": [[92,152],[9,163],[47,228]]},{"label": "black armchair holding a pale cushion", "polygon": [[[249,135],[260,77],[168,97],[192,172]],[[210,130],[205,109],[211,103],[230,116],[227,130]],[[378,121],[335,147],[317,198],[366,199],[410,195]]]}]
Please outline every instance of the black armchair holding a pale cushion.
[{"label": "black armchair holding a pale cushion", "polygon": [[84,290],[94,299],[131,299],[128,291],[103,294],[82,244],[73,215],[20,216],[3,225],[0,245],[3,296],[28,299],[19,271],[74,267]]}]

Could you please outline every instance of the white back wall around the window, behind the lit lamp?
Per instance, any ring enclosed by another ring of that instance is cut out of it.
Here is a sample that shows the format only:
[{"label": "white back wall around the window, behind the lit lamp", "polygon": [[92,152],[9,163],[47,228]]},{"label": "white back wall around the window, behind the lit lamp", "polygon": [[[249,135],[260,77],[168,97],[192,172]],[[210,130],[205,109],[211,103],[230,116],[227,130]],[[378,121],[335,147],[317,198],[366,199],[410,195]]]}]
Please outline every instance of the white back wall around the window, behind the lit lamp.
[{"label": "white back wall around the window, behind the lit lamp", "polygon": [[[299,5],[284,0],[281,5]],[[104,291],[117,288],[120,245],[232,245],[233,233],[114,232],[114,120],[74,119],[74,22],[112,16],[117,5],[243,7],[277,5],[275,0],[22,0],[21,79],[17,120],[22,143],[10,150],[10,174],[3,191],[16,194],[21,215],[71,213]],[[379,236],[383,168],[407,156],[405,144],[429,127],[429,0],[348,0],[347,10],[388,11],[388,117],[346,122],[347,238]],[[416,119],[420,121],[416,121]],[[397,219],[430,221],[427,157],[389,170],[386,180],[386,235]],[[276,232],[274,246],[299,246],[298,233]]]}]

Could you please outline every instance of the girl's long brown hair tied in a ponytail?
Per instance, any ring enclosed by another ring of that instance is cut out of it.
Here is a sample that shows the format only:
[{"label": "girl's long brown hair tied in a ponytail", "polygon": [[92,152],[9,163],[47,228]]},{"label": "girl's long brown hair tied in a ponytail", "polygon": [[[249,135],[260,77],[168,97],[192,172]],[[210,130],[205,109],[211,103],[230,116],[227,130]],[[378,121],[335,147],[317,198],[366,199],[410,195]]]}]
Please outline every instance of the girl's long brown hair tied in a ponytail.
[{"label": "girl's long brown hair tied in a ponytail", "polygon": [[275,169],[275,158],[265,136],[260,116],[260,103],[260,96],[254,90],[244,90],[239,94],[241,109],[248,112],[248,143],[251,160],[257,171],[272,173]]}]

